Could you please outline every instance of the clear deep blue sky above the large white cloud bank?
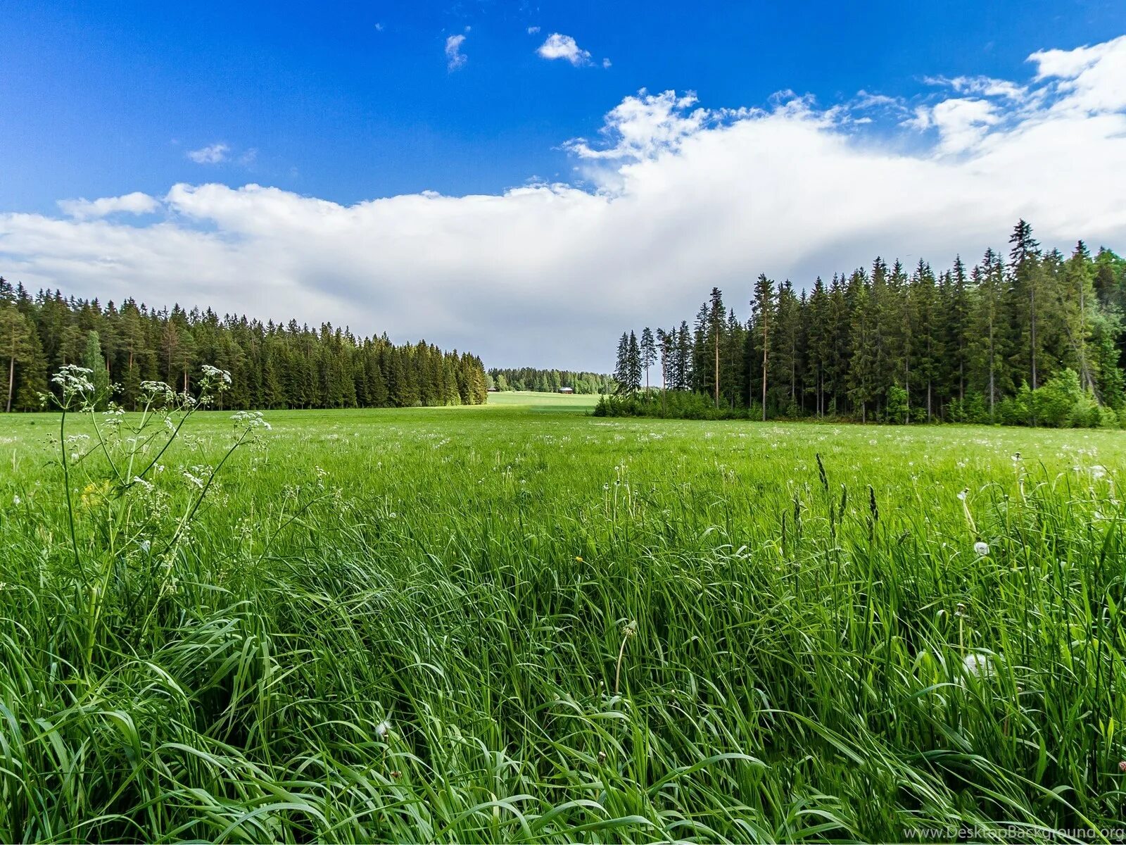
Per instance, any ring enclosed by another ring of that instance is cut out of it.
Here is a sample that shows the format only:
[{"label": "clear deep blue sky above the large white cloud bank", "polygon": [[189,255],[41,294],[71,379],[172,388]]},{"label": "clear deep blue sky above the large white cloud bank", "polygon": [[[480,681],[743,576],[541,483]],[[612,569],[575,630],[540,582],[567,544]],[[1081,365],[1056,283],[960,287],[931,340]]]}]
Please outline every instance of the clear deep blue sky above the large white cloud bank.
[{"label": "clear deep blue sky above the large white cloud bank", "polygon": [[[491,193],[571,178],[560,143],[640,88],[712,107],[785,89],[824,104],[911,96],[928,75],[1009,79],[1036,50],[1126,28],[1120,2],[1035,0],[15,2],[5,17],[0,114],[18,119],[0,136],[0,207],[12,211],[200,179],[339,203]],[[590,65],[538,57],[555,32]],[[466,62],[449,71],[445,42],[461,34]],[[186,158],[215,143],[227,161]]]}]

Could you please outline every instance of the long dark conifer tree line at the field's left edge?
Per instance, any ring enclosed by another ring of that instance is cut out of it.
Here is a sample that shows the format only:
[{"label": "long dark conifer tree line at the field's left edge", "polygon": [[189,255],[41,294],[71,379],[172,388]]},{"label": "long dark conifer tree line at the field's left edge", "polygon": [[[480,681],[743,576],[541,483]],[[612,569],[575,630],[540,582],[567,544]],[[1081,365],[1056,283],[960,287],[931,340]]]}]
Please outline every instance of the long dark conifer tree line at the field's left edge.
[{"label": "long dark conifer tree line at the field's left edge", "polygon": [[223,406],[249,408],[383,408],[484,402],[479,357],[432,344],[360,338],[323,323],[319,329],[247,317],[218,317],[179,305],[149,309],[128,299],[106,306],[30,295],[0,277],[0,408],[35,410],[65,364],[88,367],[99,401],[136,407],[143,381],[191,392],[200,366],[232,375]]}]

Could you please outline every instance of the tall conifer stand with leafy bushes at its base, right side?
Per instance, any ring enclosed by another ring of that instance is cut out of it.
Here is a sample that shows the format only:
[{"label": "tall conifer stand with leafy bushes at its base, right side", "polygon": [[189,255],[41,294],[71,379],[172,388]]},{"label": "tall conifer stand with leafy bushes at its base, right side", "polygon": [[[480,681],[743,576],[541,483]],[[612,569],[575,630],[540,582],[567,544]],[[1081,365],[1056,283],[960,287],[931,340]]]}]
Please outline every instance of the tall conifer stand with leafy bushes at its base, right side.
[{"label": "tall conifer stand with leafy bushes at its base, right side", "polygon": [[1126,260],[1045,251],[1024,220],[1009,247],[941,273],[877,258],[807,291],[760,275],[745,322],[713,288],[691,326],[622,335],[599,412],[1126,424]]}]

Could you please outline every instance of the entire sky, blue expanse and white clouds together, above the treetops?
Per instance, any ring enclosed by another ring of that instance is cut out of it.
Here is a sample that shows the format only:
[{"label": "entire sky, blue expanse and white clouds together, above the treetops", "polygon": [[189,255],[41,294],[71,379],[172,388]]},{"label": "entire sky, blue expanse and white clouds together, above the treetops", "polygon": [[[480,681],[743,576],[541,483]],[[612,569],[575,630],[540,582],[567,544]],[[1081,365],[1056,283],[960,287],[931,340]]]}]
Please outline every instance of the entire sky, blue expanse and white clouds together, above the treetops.
[{"label": "entire sky, blue expanse and white clouds together, above the treetops", "polygon": [[1126,249],[1126,12],[5,6],[0,275],[606,370],[759,273]]}]

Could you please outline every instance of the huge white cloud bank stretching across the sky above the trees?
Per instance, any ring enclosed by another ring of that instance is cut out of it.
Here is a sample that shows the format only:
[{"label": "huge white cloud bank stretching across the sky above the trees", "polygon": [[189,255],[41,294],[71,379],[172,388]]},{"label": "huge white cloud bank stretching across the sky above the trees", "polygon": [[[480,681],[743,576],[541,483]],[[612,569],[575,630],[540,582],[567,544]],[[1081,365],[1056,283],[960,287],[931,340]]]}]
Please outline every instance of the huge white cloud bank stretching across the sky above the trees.
[{"label": "huge white cloud bank stretching across the sky above the trees", "polygon": [[1107,71],[1124,59],[1126,39],[1037,53],[1013,82],[1026,97],[948,84],[904,105],[910,125],[896,104],[860,124],[854,103],[642,91],[568,145],[581,183],[354,205],[176,185],[155,221],[92,213],[120,197],[0,214],[0,269],[102,301],[425,337],[489,365],[607,370],[624,328],[679,321],[713,285],[745,315],[760,272],[805,286],[876,255],[948,266],[1004,248],[1021,216],[1047,247],[1126,248],[1126,103]]}]

